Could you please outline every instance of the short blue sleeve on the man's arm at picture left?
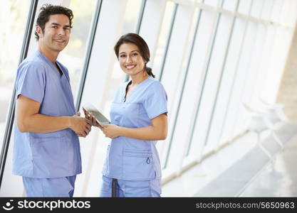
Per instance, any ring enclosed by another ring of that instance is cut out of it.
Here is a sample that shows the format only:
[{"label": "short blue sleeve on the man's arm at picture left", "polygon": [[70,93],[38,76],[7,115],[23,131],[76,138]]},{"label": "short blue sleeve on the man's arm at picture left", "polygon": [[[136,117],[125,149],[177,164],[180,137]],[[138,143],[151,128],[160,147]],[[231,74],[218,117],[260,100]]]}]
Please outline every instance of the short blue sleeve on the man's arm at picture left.
[{"label": "short blue sleeve on the man's arm at picture left", "polygon": [[41,65],[33,62],[21,65],[16,78],[16,98],[21,94],[41,103],[45,84],[46,76]]}]

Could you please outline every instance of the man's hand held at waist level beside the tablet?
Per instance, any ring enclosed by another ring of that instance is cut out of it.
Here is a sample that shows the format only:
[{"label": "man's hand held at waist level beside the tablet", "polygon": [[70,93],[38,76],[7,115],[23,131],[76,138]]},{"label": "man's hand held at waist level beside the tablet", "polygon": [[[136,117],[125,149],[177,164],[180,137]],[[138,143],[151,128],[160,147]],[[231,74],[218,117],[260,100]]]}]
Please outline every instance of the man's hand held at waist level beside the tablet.
[{"label": "man's hand held at waist level beside the tablet", "polygon": [[89,119],[80,117],[80,112],[78,111],[75,116],[71,119],[71,129],[79,136],[84,137],[88,136],[88,133],[91,130],[92,122]]}]

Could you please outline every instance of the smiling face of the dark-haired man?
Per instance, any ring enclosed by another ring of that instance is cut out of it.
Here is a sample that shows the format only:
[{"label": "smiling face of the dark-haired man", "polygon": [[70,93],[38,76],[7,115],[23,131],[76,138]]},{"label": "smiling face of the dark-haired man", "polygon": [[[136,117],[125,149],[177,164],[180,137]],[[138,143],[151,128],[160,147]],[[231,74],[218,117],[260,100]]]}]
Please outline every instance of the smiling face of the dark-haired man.
[{"label": "smiling face of the dark-haired man", "polygon": [[66,47],[70,37],[69,18],[63,14],[51,15],[46,22],[44,31],[42,32],[39,26],[36,31],[39,35],[38,43],[40,45],[48,50],[60,52]]}]

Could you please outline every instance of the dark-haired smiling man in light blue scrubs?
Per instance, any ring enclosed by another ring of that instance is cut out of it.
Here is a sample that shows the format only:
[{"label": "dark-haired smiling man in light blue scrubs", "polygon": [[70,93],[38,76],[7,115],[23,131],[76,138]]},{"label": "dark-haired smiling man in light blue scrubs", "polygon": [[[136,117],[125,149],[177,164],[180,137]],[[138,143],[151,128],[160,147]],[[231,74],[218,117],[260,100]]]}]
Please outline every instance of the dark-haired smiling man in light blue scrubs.
[{"label": "dark-haired smiling man in light blue scrubs", "polygon": [[68,70],[56,59],[68,44],[73,13],[43,5],[36,21],[38,50],[16,77],[14,175],[23,176],[28,197],[72,197],[81,173],[78,136],[90,121],[75,114]]}]

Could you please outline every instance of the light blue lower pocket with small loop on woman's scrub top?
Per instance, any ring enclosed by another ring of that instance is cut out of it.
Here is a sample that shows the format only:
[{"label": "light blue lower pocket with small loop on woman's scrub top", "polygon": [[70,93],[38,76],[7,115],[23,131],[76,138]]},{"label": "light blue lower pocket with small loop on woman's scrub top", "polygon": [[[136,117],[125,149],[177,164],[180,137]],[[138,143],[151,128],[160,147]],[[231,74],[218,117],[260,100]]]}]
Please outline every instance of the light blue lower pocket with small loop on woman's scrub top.
[{"label": "light blue lower pocket with small loop on woman's scrub top", "polygon": [[123,179],[153,180],[155,177],[151,151],[123,150]]}]

